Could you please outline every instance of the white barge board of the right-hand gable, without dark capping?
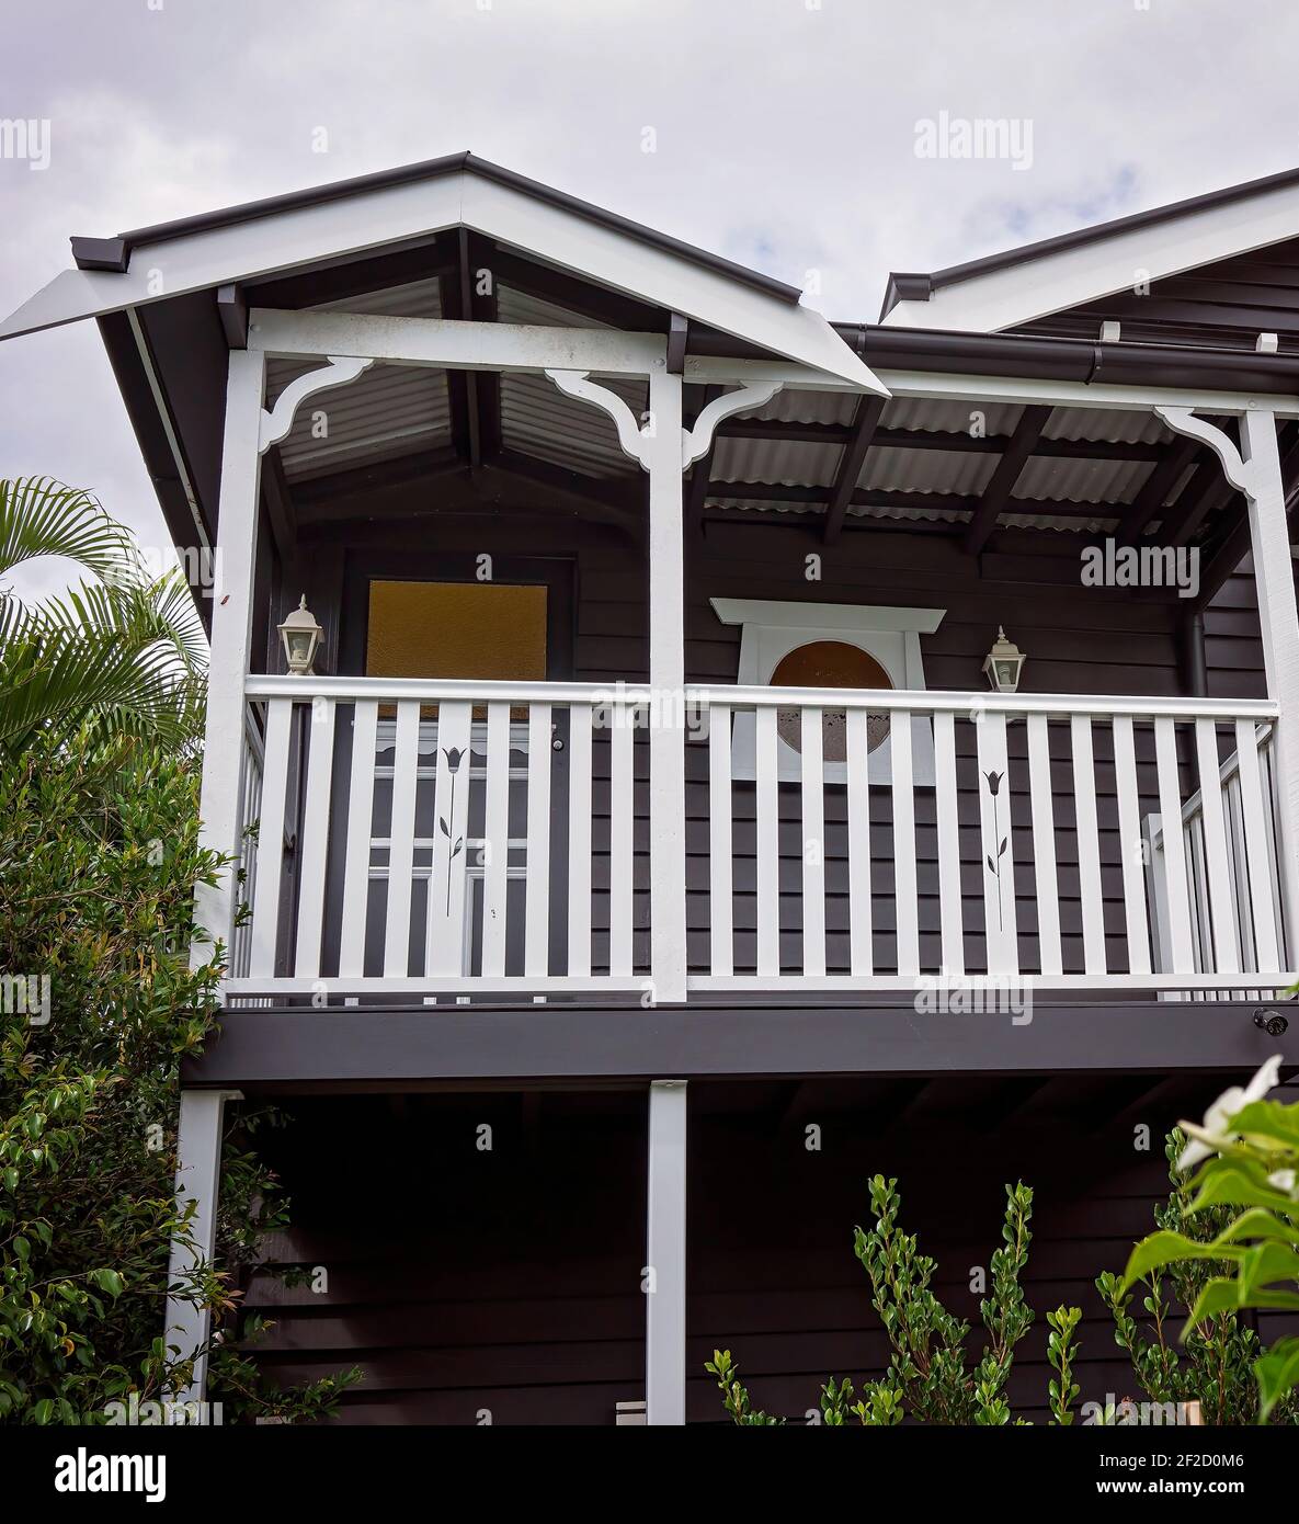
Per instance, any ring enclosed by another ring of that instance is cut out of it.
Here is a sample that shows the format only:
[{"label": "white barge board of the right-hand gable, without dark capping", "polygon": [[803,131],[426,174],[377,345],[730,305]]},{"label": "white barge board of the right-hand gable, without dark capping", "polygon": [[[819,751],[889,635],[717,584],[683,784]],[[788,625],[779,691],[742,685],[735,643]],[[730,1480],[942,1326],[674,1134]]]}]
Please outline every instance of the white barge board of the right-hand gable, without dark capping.
[{"label": "white barge board of the right-hand gable, without dark capping", "polygon": [[1299,232],[1299,186],[1259,189],[1214,206],[1189,206],[1139,227],[1075,247],[1026,253],[999,268],[938,285],[927,302],[898,302],[883,319],[888,328],[937,328],[996,334],[1037,317],[1130,291],[1138,280],[1247,255]]}]

